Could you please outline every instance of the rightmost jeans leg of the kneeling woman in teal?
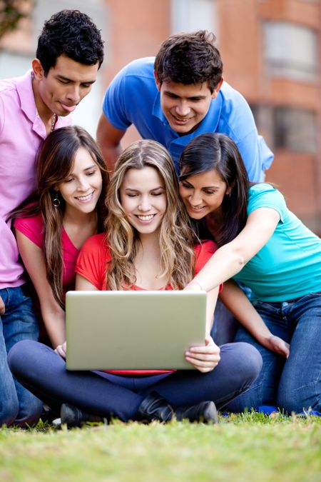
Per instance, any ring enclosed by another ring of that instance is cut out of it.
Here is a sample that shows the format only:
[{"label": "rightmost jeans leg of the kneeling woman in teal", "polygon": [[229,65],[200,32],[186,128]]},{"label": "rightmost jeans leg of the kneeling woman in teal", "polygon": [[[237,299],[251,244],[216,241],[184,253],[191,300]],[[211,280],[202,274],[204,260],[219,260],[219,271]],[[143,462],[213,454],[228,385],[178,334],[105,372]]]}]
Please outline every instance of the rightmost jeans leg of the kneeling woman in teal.
[{"label": "rightmost jeans leg of the kneeling woman in teal", "polygon": [[321,293],[289,303],[285,314],[295,329],[277,404],[287,413],[309,407],[321,412]]}]

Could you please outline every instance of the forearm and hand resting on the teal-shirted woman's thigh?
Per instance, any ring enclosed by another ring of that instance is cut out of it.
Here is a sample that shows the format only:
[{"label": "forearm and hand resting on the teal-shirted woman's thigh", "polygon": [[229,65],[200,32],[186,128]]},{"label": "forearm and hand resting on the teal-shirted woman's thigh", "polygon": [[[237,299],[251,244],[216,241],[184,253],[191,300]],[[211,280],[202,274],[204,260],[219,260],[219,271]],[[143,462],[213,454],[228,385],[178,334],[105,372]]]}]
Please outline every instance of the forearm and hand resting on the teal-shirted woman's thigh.
[{"label": "forearm and hand resting on the teal-shirted woman's thigh", "polygon": [[224,283],[220,300],[261,345],[287,358],[289,345],[282,338],[272,335],[258,311],[233,280]]}]

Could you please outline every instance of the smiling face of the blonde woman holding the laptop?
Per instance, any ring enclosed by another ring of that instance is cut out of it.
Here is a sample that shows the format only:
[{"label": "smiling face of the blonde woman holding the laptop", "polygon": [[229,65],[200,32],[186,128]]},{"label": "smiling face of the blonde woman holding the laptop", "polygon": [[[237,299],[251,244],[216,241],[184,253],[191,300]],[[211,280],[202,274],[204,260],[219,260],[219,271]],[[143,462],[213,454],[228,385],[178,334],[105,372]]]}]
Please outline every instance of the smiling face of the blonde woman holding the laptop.
[{"label": "smiling face of the blonde woman holding the laptop", "polygon": [[139,234],[154,234],[158,231],[167,201],[163,180],[156,169],[128,169],[120,194],[125,216]]}]

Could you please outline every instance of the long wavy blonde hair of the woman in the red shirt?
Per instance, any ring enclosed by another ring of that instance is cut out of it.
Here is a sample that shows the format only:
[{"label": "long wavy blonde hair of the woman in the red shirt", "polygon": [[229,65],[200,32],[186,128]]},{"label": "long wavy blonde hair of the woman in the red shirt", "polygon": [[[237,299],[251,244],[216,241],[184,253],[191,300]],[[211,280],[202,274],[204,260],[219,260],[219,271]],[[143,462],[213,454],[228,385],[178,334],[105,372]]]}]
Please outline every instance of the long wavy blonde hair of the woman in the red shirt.
[{"label": "long wavy blonde hair of the woman in the red shirt", "polygon": [[105,222],[111,261],[106,266],[107,288],[123,290],[136,283],[135,258],[139,235],[126,219],[120,189],[129,169],[156,169],[164,184],[167,208],[159,231],[161,250],[160,277],[173,289],[182,289],[193,277],[195,255],[193,230],[185,206],[178,195],[178,179],[168,151],[156,141],[141,140],[128,146],[118,158],[108,186]]}]

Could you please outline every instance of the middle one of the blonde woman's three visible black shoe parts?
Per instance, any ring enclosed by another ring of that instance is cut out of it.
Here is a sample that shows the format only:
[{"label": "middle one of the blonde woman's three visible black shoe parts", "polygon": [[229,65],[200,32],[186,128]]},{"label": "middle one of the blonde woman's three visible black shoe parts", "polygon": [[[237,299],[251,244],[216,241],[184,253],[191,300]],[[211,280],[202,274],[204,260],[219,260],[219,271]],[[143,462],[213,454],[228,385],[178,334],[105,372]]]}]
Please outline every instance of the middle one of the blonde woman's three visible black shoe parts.
[{"label": "middle one of the blonde woman's three visible black shoe parts", "polygon": [[159,396],[156,391],[153,391],[141,402],[136,412],[135,420],[146,423],[153,420],[168,422],[173,418],[173,414],[173,408],[165,398]]}]

